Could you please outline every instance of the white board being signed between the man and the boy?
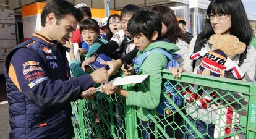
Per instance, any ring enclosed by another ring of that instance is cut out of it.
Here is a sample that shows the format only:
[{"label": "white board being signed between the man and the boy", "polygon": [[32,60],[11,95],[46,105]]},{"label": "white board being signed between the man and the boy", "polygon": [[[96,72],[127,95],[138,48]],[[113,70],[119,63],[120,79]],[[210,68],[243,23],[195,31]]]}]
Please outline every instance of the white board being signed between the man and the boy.
[{"label": "white board being signed between the man and the boy", "polygon": [[[101,85],[101,86],[108,85],[109,83],[112,83],[113,86],[128,85],[128,84],[134,84],[134,83],[142,83],[146,78],[148,78],[148,74],[146,74],[146,75],[130,75],[130,76],[126,76],[126,77],[117,77],[117,78],[114,78],[113,80],[111,80],[108,83],[105,83],[104,85]],[[93,93],[96,93],[96,92],[100,91],[100,87],[96,88],[96,90],[94,90],[94,91],[88,92],[87,95],[90,95],[90,94],[93,94]]]}]

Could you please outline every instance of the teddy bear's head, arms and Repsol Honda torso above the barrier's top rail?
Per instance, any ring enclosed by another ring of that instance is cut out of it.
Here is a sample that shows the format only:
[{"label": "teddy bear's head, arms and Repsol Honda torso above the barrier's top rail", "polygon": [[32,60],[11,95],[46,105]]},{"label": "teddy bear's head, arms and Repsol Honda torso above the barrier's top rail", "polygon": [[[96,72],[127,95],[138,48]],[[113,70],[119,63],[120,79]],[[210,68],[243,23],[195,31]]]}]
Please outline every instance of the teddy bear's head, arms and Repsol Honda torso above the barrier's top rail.
[{"label": "teddy bear's head, arms and Repsol Honda torso above the barrier's top rail", "polygon": [[211,36],[209,43],[212,44],[211,51],[199,51],[190,56],[192,60],[202,58],[200,74],[223,78],[225,71],[230,71],[235,78],[241,80],[244,73],[231,59],[243,53],[246,45],[236,36],[220,34]]}]

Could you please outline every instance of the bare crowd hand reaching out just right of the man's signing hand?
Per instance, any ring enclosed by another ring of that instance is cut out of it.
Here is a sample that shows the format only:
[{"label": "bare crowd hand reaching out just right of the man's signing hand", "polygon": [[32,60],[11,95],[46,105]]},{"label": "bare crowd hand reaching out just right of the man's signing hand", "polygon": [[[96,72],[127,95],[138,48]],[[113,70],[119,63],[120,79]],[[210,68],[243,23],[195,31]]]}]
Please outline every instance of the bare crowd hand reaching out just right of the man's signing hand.
[{"label": "bare crowd hand reaching out just right of the man's signing hand", "polygon": [[113,61],[101,62],[100,64],[109,66],[108,75],[109,75],[109,77],[111,77],[112,75],[116,75],[117,70],[122,65],[122,61],[120,59],[117,59],[117,60],[113,60]]}]

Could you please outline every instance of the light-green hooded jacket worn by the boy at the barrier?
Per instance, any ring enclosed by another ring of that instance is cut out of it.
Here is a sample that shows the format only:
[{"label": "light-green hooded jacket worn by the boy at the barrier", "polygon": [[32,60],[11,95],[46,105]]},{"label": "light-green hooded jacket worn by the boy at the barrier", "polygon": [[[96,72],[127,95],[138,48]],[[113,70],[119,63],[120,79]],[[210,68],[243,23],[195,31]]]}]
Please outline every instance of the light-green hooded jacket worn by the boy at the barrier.
[{"label": "light-green hooded jacket worn by the boy at the barrier", "polygon": [[[140,54],[150,51],[152,49],[165,49],[170,53],[179,51],[179,47],[175,44],[158,41],[151,43],[142,52],[138,51],[137,57]],[[155,109],[160,101],[160,93],[162,88],[162,75],[161,72],[166,68],[168,59],[164,54],[160,52],[151,53],[142,63],[140,72],[138,75],[149,74],[149,77],[141,84],[138,85],[126,85],[129,93],[129,97],[126,98],[126,105],[138,106],[139,119],[147,121],[148,109]],[[134,65],[136,66],[136,65]]]}]

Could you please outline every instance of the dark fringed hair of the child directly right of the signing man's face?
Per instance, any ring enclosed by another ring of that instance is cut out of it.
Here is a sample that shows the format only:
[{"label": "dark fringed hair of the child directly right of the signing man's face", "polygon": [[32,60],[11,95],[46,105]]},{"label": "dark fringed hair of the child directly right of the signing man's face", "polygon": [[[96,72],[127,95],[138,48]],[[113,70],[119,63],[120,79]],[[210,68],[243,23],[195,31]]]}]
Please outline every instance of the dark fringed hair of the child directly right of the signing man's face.
[{"label": "dark fringed hair of the child directly right of the signing man's face", "polygon": [[79,24],[79,27],[80,32],[82,32],[83,30],[93,30],[96,33],[100,34],[100,27],[95,19],[82,20]]}]

